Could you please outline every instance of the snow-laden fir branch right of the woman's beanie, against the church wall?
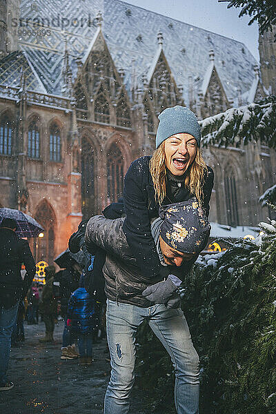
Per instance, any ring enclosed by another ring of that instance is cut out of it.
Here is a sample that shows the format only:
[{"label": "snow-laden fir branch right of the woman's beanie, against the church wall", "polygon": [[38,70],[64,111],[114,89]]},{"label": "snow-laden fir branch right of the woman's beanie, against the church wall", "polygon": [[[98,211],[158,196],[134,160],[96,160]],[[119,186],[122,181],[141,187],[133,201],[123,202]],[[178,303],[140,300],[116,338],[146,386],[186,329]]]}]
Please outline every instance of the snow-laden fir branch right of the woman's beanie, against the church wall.
[{"label": "snow-laden fir branch right of the woman's beanie, against the church wall", "polygon": [[276,97],[225,112],[199,121],[202,145],[237,146],[261,139],[276,149]]}]

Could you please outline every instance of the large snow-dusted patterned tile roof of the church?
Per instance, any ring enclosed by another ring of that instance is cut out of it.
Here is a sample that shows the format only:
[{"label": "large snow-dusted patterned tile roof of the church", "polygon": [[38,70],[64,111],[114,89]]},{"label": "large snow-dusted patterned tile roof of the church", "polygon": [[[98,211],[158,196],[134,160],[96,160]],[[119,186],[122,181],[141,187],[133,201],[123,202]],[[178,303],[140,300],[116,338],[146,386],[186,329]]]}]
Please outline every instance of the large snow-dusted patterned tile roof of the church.
[{"label": "large snow-dusted patterned tile roof of the church", "polygon": [[215,52],[217,73],[228,97],[237,95],[238,87],[242,92],[248,90],[254,78],[253,67],[257,62],[243,43],[119,0],[21,0],[20,8],[23,22],[34,18],[50,21],[49,35],[27,34],[19,39],[21,50],[32,62],[48,93],[61,95],[65,38],[73,77],[77,70],[75,59],[87,57],[98,30],[95,21],[98,10],[103,13],[102,30],[110,55],[117,69],[124,68],[128,90],[133,59],[138,82],[155,62],[159,31],[164,37],[164,55],[176,83],[184,86],[187,103],[188,77],[200,79],[199,83],[204,80],[210,64],[210,48]]}]

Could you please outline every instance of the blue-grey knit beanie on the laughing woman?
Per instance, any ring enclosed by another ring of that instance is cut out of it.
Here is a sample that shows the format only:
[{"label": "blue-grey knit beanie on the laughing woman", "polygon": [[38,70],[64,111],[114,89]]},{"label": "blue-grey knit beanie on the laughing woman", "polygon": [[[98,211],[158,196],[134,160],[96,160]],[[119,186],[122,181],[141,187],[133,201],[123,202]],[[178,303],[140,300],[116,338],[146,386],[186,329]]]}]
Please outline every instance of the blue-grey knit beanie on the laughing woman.
[{"label": "blue-grey knit beanie on the laughing woman", "polygon": [[159,126],[156,134],[156,148],[168,137],[175,134],[186,133],[193,135],[200,146],[201,131],[194,112],[185,106],[166,108],[158,117]]}]

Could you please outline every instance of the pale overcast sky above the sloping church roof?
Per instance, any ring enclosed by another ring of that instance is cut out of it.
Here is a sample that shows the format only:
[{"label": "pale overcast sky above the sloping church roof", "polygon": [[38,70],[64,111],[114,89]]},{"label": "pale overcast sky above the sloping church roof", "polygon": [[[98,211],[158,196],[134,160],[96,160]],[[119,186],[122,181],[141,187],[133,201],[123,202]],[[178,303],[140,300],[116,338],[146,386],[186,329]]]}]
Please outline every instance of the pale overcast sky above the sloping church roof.
[{"label": "pale overcast sky above the sloping church roof", "polygon": [[227,8],[217,0],[121,0],[159,14],[193,24],[223,36],[242,41],[259,61],[258,26],[248,26],[249,18],[239,18],[239,9]]}]

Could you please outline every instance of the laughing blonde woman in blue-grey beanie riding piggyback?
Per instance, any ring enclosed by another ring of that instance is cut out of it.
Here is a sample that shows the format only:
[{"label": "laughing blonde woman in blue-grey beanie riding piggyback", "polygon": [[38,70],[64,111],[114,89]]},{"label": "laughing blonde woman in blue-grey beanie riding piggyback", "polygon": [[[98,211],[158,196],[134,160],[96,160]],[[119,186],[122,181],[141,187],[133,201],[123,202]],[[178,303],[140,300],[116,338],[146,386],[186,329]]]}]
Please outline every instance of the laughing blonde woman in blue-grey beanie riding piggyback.
[{"label": "laughing blonde woman in blue-grey beanie riding piggyback", "polygon": [[[175,106],[166,108],[158,118],[155,152],[152,157],[133,161],[124,182],[123,230],[137,264],[149,278],[159,275],[162,268],[150,232],[159,206],[196,197],[208,216],[214,180],[212,168],[201,157],[201,131],[194,113]],[[176,259],[165,257],[164,260],[171,264]],[[195,259],[186,262],[179,273],[183,276],[180,279],[184,279],[194,262]],[[177,262],[174,264],[177,266]]]}]

